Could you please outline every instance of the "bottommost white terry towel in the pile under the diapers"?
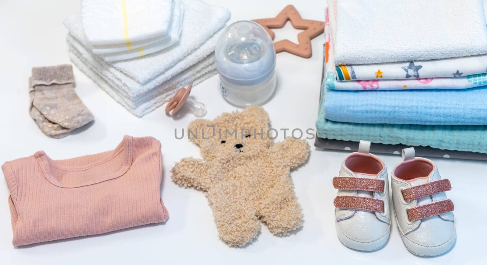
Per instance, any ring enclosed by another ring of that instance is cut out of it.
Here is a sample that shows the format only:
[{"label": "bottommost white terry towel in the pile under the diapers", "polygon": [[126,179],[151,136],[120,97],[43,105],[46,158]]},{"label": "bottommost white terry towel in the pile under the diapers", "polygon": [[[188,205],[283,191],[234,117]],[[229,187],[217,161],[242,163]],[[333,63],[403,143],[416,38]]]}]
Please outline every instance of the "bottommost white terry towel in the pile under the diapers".
[{"label": "bottommost white terry towel in the pile under the diapers", "polygon": [[[150,99],[134,108],[127,104],[126,99],[123,97],[123,95],[121,95],[118,88],[112,87],[111,84],[109,84],[103,77],[99,76],[97,72],[87,66],[74,53],[69,52],[69,57],[83,73],[90,77],[98,86],[100,86],[108,95],[112,96],[131,114],[134,114],[137,117],[142,117],[149,114],[156,108],[168,102],[169,99],[176,94],[178,88],[186,87],[190,82],[193,82],[193,84],[196,85],[216,74],[216,65],[214,62],[209,66],[200,69],[199,71],[189,68],[187,71],[181,73],[181,75],[175,76],[168,82],[162,84],[158,88],[159,93],[157,95],[153,95]],[[211,57],[211,59],[213,59],[213,57]]]}]

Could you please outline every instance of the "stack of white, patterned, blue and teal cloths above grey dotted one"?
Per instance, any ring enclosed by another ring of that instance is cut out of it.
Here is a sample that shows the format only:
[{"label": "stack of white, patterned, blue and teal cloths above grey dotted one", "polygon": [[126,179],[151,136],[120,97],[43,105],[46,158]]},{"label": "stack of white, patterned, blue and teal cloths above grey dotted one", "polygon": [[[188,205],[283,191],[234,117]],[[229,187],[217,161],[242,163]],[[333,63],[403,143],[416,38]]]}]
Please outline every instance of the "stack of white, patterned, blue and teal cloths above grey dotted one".
[{"label": "stack of white, patterned, blue and teal cloths above grey dotted one", "polygon": [[482,0],[328,0],[317,134],[487,153]]}]

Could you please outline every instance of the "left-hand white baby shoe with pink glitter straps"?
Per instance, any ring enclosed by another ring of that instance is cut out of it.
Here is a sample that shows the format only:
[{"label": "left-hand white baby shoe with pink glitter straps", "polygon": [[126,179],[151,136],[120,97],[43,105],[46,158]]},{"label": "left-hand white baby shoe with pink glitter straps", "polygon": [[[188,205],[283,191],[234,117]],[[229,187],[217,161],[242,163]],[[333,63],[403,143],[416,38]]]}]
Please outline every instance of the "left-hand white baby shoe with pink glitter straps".
[{"label": "left-hand white baby shoe with pink glitter straps", "polygon": [[338,189],[334,200],[338,239],[367,251],[384,246],[391,228],[387,169],[369,150],[370,142],[360,141],[358,152],[345,157],[333,178]]}]

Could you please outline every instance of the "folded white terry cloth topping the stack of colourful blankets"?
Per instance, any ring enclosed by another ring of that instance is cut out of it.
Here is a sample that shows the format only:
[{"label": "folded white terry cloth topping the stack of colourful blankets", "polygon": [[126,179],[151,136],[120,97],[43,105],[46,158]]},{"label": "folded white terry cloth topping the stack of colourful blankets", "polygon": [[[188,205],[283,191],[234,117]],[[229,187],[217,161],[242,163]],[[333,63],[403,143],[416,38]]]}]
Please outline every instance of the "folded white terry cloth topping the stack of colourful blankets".
[{"label": "folded white terry cloth topping the stack of colourful blankets", "polygon": [[482,0],[327,0],[336,64],[487,54]]}]

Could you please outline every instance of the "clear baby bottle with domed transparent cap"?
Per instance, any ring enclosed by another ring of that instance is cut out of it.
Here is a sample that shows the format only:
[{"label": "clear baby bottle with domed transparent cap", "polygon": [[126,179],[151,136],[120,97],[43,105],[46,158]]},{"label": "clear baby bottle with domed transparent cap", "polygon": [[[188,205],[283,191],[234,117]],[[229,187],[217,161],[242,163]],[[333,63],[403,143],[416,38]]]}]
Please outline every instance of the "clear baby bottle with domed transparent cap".
[{"label": "clear baby bottle with domed transparent cap", "polygon": [[261,25],[247,20],[229,25],[216,44],[220,88],[237,107],[259,105],[276,89],[274,44]]}]

